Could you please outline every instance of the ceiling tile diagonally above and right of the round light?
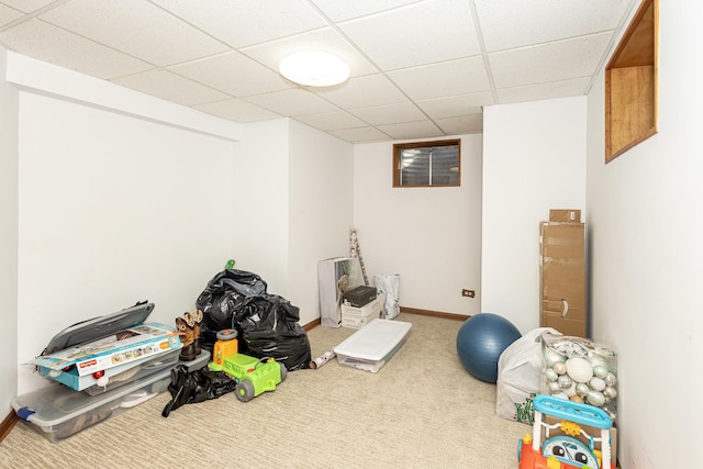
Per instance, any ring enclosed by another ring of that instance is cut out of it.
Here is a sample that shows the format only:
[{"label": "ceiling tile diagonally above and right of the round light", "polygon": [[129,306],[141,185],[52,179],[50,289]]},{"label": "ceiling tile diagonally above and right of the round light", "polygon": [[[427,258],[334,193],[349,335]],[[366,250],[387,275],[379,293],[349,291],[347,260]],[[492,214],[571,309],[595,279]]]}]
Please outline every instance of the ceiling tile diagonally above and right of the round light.
[{"label": "ceiling tile diagonally above and right of the round light", "polygon": [[339,23],[339,27],[371,62],[384,70],[480,53],[466,0],[413,3]]}]

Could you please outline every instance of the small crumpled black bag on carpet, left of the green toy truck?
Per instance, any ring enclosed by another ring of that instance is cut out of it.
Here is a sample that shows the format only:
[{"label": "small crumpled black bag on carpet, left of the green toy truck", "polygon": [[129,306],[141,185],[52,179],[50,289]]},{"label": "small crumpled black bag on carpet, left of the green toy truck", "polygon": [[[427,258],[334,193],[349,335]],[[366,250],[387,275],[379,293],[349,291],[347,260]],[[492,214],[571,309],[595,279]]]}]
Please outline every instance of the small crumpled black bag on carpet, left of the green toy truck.
[{"label": "small crumpled black bag on carpet, left of the green toy truck", "polygon": [[236,381],[225,372],[212,371],[207,366],[188,371],[188,367],[179,365],[171,370],[171,382],[168,384],[171,400],[164,407],[161,415],[167,417],[171,411],[185,404],[217,399],[234,391]]}]

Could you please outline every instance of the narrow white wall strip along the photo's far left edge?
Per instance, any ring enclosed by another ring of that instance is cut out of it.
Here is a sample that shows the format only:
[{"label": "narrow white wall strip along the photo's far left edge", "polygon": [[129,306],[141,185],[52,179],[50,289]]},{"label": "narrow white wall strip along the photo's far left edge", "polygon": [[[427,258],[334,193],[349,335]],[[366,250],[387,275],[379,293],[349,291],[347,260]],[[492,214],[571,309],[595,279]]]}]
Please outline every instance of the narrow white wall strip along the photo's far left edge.
[{"label": "narrow white wall strip along the photo's far left edge", "polygon": [[0,47],[0,420],[18,382],[18,91],[4,80]]}]

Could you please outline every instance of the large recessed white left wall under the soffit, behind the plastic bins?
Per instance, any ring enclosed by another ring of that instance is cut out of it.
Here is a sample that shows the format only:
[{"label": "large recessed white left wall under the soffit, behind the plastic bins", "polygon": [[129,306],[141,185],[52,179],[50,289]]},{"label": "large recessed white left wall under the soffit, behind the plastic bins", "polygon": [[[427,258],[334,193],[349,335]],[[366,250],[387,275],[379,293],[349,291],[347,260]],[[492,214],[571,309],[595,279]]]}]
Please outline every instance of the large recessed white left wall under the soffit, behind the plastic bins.
[{"label": "large recessed white left wall under the soffit, behind the plastic bins", "polygon": [[18,360],[140,300],[192,310],[232,252],[232,142],[24,91],[19,127]]}]

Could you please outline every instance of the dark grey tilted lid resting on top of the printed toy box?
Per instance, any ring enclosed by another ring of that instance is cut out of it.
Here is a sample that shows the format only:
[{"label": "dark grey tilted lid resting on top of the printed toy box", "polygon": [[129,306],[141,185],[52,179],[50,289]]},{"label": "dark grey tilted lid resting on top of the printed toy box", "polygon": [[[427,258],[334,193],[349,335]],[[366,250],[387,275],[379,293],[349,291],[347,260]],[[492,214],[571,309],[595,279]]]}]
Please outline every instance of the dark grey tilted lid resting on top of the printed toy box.
[{"label": "dark grey tilted lid resting on top of the printed toy box", "polygon": [[42,355],[52,354],[56,350],[63,350],[74,345],[107,337],[125,328],[134,327],[146,321],[154,308],[154,303],[144,301],[116,313],[76,323],[56,334],[44,348]]}]

